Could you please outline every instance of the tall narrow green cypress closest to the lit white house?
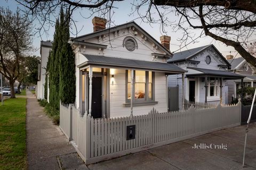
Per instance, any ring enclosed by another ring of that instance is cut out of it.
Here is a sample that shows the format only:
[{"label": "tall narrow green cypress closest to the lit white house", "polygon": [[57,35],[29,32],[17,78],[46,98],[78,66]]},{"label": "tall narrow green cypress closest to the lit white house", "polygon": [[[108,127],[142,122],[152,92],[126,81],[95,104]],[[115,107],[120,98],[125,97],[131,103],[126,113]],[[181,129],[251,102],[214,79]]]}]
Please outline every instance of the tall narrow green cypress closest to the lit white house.
[{"label": "tall narrow green cypress closest to the lit white house", "polygon": [[63,44],[60,55],[60,99],[65,104],[75,102],[76,77],[75,77],[75,54],[69,40],[69,18],[66,12],[65,23],[62,29]]}]

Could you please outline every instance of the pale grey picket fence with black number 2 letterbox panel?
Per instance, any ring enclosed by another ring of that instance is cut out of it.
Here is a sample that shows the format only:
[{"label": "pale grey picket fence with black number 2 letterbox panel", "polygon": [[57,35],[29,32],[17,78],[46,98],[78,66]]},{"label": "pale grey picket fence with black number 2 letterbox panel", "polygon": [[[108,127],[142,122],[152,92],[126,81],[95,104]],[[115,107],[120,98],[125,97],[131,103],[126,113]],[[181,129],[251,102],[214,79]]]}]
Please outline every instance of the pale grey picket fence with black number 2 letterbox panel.
[{"label": "pale grey picket fence with black number 2 letterbox panel", "polygon": [[[153,109],[147,115],[105,119],[81,116],[74,106],[68,108],[72,115],[69,120],[72,122],[71,138],[86,164],[237,126],[241,122],[240,102],[198,109],[190,107],[171,113],[158,113]],[[61,115],[67,114],[65,109],[61,111]],[[61,116],[60,121],[64,121],[64,117],[70,114]],[[62,131],[66,129],[64,125],[60,123]],[[128,125],[135,125],[135,139],[126,140]]]}]

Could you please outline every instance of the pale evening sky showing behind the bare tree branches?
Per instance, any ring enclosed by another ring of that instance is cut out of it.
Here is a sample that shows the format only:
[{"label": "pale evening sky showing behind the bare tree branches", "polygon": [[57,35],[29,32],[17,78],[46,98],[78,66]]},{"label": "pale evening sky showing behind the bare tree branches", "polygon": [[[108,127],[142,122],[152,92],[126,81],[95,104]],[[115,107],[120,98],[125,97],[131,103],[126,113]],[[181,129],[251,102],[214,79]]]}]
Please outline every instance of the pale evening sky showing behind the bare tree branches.
[{"label": "pale evening sky showing behind the bare tree branches", "polygon": [[[15,11],[17,9],[17,7],[22,8],[22,6],[20,6],[17,2],[15,2],[14,0],[8,0],[8,1],[4,1],[4,0],[0,0],[0,5],[3,7],[9,7],[10,10]],[[236,57],[240,57],[240,55],[237,55],[237,52],[235,51],[235,49],[233,47],[230,46],[226,46],[225,44],[213,40],[211,37],[202,37],[202,38],[198,38],[196,43],[190,43],[189,45],[187,45],[186,47],[183,47],[182,49],[180,49],[180,41],[178,41],[178,39],[180,39],[182,37],[182,32],[181,31],[177,31],[174,32],[173,31],[173,27],[165,27],[165,31],[166,33],[163,33],[161,31],[160,28],[160,24],[159,23],[145,23],[142,22],[141,18],[139,18],[138,14],[131,14],[132,11],[132,5],[131,5],[131,1],[125,1],[125,2],[118,2],[117,4],[115,4],[113,11],[114,14],[111,18],[111,21],[114,22],[115,25],[119,25],[119,24],[123,24],[126,22],[130,22],[130,21],[135,21],[137,24],[140,25],[140,27],[142,27],[144,30],[146,30],[152,37],[154,37],[156,40],[159,41],[159,37],[161,37],[162,35],[167,35],[171,37],[171,45],[170,45],[170,50],[171,52],[174,51],[182,51],[182,50],[187,50],[187,49],[191,49],[191,48],[196,48],[196,47],[200,47],[200,46],[205,46],[205,45],[209,45],[209,44],[213,44],[215,47],[217,47],[217,49],[220,51],[220,53],[223,56],[226,55],[234,55]],[[143,10],[143,8],[142,8]],[[146,8],[145,8],[146,11]],[[82,16],[83,15],[83,16]],[[173,13],[169,14],[169,18],[172,21],[177,21],[179,18],[178,16],[175,16]],[[75,27],[74,24],[72,25],[71,28],[71,32],[75,33],[75,35],[70,34],[70,37],[76,37],[76,36],[81,36],[81,35],[85,35],[87,33],[91,33],[93,32],[93,25],[92,25],[92,18],[94,16],[99,16],[99,14],[95,13],[93,14],[90,18],[87,18],[88,16],[90,16],[90,13],[86,10],[77,10],[74,14],[73,14],[73,20],[76,21],[76,28],[77,30],[79,30],[79,32],[76,34],[75,32]],[[36,31],[36,28],[38,27],[38,21],[34,21],[33,22],[33,27],[34,27],[34,31]],[[113,23],[111,24],[112,26],[114,25]],[[54,34],[54,27],[52,27],[51,25],[48,27],[49,30],[47,30],[47,36],[44,34],[42,36],[39,35],[39,33],[36,33],[33,36],[33,46],[35,48],[35,50],[33,52],[31,52],[31,55],[37,55],[40,56],[40,42],[41,40],[53,40],[53,34]],[[201,31],[194,31],[193,33],[195,33],[196,37],[199,36],[199,33]],[[190,42],[190,41],[188,41]],[[231,51],[231,53],[230,53]]]}]

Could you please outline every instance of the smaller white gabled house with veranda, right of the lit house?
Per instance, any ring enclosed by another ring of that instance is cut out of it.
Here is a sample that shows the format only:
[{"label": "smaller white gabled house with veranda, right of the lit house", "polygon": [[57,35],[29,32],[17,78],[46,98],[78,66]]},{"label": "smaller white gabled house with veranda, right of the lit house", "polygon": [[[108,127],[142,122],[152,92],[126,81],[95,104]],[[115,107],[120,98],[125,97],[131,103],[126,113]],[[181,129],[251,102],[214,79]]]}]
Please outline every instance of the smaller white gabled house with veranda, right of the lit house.
[{"label": "smaller white gabled house with veranda, right of the lit house", "polygon": [[[185,73],[185,99],[192,102],[228,104],[227,80],[241,80],[243,75],[230,71],[230,63],[213,45],[174,53],[168,63],[175,64],[188,72]],[[168,76],[169,87],[181,87],[181,75]],[[179,108],[182,108],[182,88],[178,88]]]}]

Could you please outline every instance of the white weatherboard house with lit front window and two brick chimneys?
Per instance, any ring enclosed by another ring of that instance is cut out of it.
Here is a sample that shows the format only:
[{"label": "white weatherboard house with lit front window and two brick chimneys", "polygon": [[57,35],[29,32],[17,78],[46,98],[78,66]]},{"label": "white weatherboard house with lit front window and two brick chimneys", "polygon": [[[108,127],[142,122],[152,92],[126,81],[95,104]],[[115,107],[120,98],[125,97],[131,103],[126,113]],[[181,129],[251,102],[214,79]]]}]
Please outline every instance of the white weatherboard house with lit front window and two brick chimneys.
[{"label": "white weatherboard house with lit front window and two brick chimneys", "polygon": [[76,107],[93,118],[167,112],[167,75],[186,71],[172,58],[170,37],[161,43],[137,23],[106,29],[94,17],[93,32],[70,38],[75,52]]}]

